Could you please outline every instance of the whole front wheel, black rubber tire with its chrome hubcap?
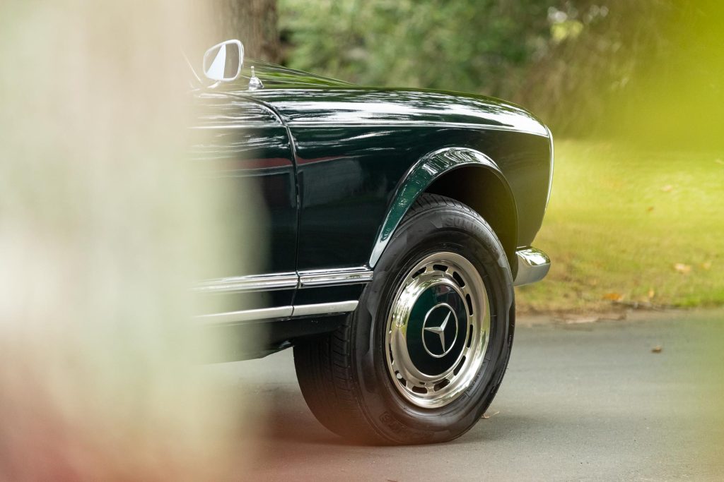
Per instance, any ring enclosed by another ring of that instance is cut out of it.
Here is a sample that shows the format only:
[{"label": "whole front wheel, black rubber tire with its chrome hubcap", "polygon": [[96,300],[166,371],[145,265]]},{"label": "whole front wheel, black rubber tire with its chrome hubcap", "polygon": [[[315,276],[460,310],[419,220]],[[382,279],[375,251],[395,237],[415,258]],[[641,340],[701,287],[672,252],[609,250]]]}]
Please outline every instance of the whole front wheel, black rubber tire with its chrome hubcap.
[{"label": "whole front wheel, black rubber tire with its chrome hubcap", "polygon": [[454,199],[423,194],[358,308],[336,331],[295,345],[295,368],[312,413],[340,436],[445,442],[492,402],[514,325],[513,278],[492,228]]}]

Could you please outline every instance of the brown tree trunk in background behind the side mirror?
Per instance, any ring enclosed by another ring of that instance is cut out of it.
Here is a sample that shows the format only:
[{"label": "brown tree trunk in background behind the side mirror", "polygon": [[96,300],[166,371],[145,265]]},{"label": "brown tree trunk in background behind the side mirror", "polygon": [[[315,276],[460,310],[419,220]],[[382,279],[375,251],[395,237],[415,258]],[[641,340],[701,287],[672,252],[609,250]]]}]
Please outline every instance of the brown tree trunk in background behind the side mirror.
[{"label": "brown tree trunk in background behind the side mirror", "polygon": [[214,0],[214,13],[217,41],[237,38],[245,56],[279,61],[277,0]]}]

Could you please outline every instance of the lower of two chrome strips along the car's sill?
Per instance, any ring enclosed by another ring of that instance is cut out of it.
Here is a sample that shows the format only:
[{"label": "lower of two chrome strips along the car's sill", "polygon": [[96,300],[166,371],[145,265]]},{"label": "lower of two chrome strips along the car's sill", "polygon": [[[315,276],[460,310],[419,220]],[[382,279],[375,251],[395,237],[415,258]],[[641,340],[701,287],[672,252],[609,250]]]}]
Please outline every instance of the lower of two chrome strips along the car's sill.
[{"label": "lower of two chrome strips along the car's sill", "polygon": [[248,309],[229,313],[204,314],[198,317],[209,324],[256,322],[264,319],[309,317],[316,314],[344,314],[357,309],[359,301],[335,301],[311,305],[279,306],[278,308]]}]

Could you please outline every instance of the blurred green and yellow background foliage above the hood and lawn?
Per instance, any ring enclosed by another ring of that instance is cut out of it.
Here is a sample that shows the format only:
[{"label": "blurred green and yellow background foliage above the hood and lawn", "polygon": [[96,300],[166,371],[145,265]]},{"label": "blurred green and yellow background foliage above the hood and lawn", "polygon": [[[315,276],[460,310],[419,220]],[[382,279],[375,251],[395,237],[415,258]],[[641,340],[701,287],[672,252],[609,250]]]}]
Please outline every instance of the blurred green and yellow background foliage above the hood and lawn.
[{"label": "blurred green and yellow background foliage above the hood and lawn", "polygon": [[724,100],[720,1],[279,0],[279,12],[297,69],[508,98],[559,135],[724,142],[710,108]]}]

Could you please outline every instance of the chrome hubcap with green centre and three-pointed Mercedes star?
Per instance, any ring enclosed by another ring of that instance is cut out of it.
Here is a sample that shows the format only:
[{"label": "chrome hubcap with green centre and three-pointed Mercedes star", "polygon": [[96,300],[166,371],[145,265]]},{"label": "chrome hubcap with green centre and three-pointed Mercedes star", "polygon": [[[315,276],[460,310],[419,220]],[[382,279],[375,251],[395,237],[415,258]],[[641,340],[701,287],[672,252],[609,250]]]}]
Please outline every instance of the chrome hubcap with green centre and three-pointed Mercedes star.
[{"label": "chrome hubcap with green centre and three-pointed Mercedes star", "polygon": [[413,267],[387,318],[387,369],[400,395],[423,408],[451,403],[483,365],[490,329],[478,270],[450,252]]}]

